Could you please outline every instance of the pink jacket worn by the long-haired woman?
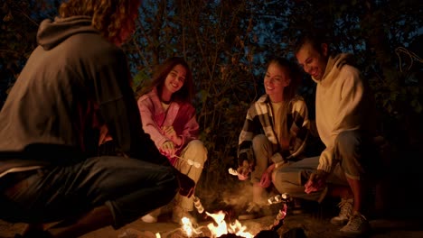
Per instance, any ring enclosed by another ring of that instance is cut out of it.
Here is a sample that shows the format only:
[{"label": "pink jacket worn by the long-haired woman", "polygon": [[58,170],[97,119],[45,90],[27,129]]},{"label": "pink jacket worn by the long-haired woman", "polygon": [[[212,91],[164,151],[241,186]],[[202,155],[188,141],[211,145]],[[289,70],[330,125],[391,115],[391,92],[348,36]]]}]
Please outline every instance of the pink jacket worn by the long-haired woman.
[{"label": "pink jacket worn by the long-haired woman", "polygon": [[[157,96],[157,90],[154,88],[151,92],[138,99],[138,109],[141,114],[143,129],[146,133],[150,134],[151,139],[155,142],[155,146],[159,148],[159,151],[164,142],[171,141],[164,136],[161,129],[163,126],[174,126],[176,134],[180,135],[183,139],[181,146],[176,148],[176,155],[180,155],[188,142],[198,139],[199,125],[195,117],[193,105],[172,102],[166,112]],[[161,152],[164,154],[163,151]],[[168,159],[174,164],[176,158],[168,157]]]}]

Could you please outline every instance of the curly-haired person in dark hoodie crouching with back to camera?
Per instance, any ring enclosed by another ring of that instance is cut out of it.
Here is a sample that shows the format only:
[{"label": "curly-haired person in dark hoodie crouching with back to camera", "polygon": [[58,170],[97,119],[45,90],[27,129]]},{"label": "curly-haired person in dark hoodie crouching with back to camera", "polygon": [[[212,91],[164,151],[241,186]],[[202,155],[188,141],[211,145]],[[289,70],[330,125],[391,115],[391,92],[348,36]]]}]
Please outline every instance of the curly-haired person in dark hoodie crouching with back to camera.
[{"label": "curly-haired person in dark hoodie crouching with back to camera", "polygon": [[[193,180],[140,123],[119,48],[134,32],[139,5],[69,0],[40,24],[39,45],[0,112],[0,219],[29,224],[15,237],[118,229],[178,191],[193,194]],[[99,156],[109,138],[118,155]]]}]

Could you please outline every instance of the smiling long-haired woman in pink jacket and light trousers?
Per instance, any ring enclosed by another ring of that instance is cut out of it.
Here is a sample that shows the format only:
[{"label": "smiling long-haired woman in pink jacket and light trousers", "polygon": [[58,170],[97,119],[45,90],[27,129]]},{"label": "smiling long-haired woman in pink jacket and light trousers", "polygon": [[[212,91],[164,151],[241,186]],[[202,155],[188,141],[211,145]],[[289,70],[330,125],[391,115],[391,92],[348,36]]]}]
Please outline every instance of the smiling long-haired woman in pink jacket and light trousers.
[{"label": "smiling long-haired woman in pink jacket and light trousers", "polygon": [[[207,150],[198,140],[199,125],[192,96],[192,72],[184,59],[173,57],[158,66],[150,86],[142,91],[137,103],[143,129],[155,146],[176,169],[197,183],[207,160]],[[190,211],[193,211],[193,196],[176,196],[172,220],[181,223],[186,216],[193,221]],[[154,223],[159,214],[160,210],[155,210],[142,220]]]}]

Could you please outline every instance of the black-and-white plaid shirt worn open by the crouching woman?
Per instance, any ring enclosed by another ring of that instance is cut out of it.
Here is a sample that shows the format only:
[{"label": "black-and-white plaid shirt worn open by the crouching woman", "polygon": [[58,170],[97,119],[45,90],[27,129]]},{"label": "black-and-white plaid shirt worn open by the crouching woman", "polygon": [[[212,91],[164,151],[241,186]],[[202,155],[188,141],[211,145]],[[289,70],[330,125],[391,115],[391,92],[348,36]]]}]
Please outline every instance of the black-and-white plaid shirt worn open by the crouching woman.
[{"label": "black-and-white plaid shirt worn open by the crouching woman", "polygon": [[241,165],[240,155],[248,153],[249,163],[253,162],[252,139],[255,135],[264,133],[277,152],[272,156],[274,163],[283,160],[299,160],[305,149],[308,137],[308,112],[305,101],[301,96],[294,97],[288,104],[287,128],[289,128],[289,148],[283,150],[277,140],[274,128],[273,111],[268,95],[260,96],[258,101],[249,107],[244,126],[240,133],[238,145],[238,162]]}]

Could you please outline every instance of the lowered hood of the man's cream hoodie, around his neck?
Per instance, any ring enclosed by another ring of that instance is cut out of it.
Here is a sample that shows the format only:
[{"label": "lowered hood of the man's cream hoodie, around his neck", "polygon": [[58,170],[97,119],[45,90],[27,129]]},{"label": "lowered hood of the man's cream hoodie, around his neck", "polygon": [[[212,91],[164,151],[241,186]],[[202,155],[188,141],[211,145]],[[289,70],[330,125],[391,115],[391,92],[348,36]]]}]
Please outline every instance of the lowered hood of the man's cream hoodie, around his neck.
[{"label": "lowered hood of the man's cream hoodie, around his neck", "polygon": [[334,78],[336,78],[340,72],[340,70],[343,68],[344,65],[355,65],[355,62],[353,60],[353,54],[350,53],[341,53],[337,54],[335,56],[330,56],[327,64],[326,69],[324,69],[324,76],[321,80],[316,80],[312,77],[312,79],[316,83],[322,84],[322,86],[329,86],[332,84],[332,81]]}]

